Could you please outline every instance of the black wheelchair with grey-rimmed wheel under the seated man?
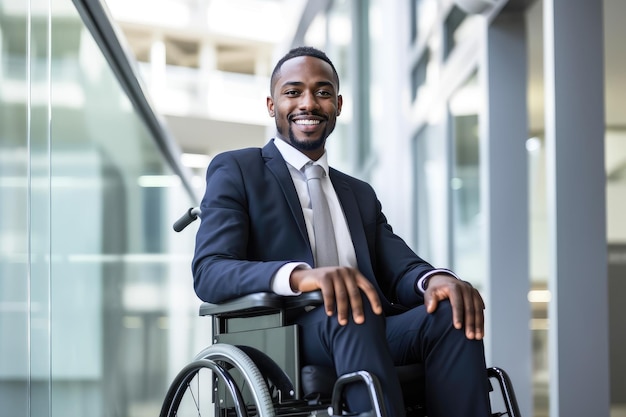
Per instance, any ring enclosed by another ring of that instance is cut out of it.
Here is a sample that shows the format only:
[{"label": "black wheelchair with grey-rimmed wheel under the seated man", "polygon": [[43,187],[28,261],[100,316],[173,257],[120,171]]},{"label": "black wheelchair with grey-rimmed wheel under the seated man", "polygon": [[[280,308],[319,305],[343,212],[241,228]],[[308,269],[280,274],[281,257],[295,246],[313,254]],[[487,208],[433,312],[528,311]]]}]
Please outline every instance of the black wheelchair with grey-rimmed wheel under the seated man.
[{"label": "black wheelchair with grey-rimmed wheel under the seated man", "polygon": [[[189,209],[175,224],[180,231],[199,209]],[[245,295],[220,304],[202,303],[200,316],[212,318],[213,343],[171,382],[160,417],[332,417],[350,414],[342,401],[350,384],[364,384],[371,409],[358,417],[387,417],[381,384],[367,371],[335,375],[334,369],[301,366],[299,327],[294,314],[323,303],[319,292],[283,297]],[[408,417],[427,417],[424,370],[420,364],[396,367]],[[497,367],[485,377],[499,386],[492,416],[521,417],[511,380]],[[492,388],[492,391],[493,388]],[[490,395],[490,397],[492,397]]]}]

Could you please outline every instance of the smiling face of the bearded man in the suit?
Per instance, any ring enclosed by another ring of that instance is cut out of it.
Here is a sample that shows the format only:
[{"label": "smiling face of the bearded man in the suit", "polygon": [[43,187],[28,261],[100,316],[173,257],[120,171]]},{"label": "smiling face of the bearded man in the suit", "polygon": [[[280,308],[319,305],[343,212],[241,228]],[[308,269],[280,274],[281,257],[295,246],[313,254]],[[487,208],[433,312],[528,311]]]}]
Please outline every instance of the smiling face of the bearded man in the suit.
[{"label": "smiling face of the bearded man in the suit", "polygon": [[331,66],[321,59],[301,56],[285,61],[267,110],[276,120],[278,137],[316,160],[335,128],[342,98]]}]

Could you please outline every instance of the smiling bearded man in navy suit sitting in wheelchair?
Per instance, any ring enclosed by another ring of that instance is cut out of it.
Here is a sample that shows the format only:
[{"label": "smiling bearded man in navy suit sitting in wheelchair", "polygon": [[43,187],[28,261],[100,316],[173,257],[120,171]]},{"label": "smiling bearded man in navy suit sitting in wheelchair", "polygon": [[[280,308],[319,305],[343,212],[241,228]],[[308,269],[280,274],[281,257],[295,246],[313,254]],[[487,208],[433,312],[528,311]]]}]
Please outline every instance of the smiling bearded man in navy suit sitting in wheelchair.
[{"label": "smiling bearded man in navy suit sitting in wheelchair", "polygon": [[[207,170],[196,293],[219,302],[321,290],[324,305],[296,319],[304,362],[338,375],[370,371],[390,416],[404,415],[394,365],[423,363],[429,416],[488,416],[480,294],[396,236],[368,184],[328,167],[325,143],[343,104],[332,62],[317,49],[296,48],[277,63],[270,89],[277,138],[218,155]],[[315,239],[304,174],[312,162],[327,173],[322,187],[337,244],[336,264],[321,267],[316,254],[330,240]],[[351,411],[369,409],[363,387],[346,397]]]}]

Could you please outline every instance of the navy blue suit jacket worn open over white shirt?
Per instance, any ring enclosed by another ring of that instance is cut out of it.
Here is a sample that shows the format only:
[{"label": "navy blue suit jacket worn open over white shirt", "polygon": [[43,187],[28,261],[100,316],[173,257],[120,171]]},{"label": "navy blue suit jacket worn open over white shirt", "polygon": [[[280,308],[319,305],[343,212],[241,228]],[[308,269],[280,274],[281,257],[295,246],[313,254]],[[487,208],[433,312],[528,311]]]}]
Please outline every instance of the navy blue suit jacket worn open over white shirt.
[{"label": "navy blue suit jacket worn open over white shirt", "polygon": [[[329,175],[358,269],[375,284],[385,312],[397,311],[392,303],[422,304],[415,282],[433,267],[393,233],[369,184],[332,168]],[[272,276],[285,263],[314,264],[296,189],[273,141],[216,156],[207,170],[201,209],[192,269],[203,301],[271,292]]]}]

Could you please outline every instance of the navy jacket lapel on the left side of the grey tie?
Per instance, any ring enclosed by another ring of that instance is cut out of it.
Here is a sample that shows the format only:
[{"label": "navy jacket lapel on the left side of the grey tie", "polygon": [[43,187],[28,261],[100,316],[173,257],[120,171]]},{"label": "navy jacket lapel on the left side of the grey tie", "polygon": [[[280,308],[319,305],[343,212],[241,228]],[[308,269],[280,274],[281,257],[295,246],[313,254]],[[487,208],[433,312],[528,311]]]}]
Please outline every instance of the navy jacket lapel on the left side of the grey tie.
[{"label": "navy jacket lapel on the left side of the grey tie", "polygon": [[278,151],[276,145],[274,145],[273,140],[263,147],[261,154],[265,160],[265,166],[272,172],[274,177],[276,177],[276,180],[280,185],[283,195],[285,196],[285,200],[287,200],[287,204],[291,210],[291,215],[298,225],[302,238],[310,247],[311,243],[309,242],[309,235],[306,230],[302,207],[300,206],[298,193],[296,192],[296,187],[293,185],[289,168],[287,168],[287,163]]}]

